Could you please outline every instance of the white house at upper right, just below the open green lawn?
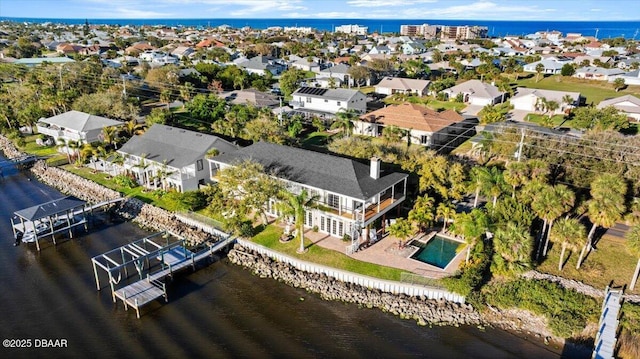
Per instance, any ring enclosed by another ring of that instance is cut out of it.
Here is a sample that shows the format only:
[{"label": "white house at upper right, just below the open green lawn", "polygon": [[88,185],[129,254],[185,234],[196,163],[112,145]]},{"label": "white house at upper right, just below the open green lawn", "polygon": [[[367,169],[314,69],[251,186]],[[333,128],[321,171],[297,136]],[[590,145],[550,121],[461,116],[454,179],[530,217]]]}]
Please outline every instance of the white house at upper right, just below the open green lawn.
[{"label": "white house at upper right, just below the open green lawn", "polygon": [[[554,111],[554,114],[562,114],[568,108],[579,106],[583,101],[579,92],[518,87],[515,95],[509,100],[509,102],[513,105],[514,110],[537,112],[543,110],[542,99],[558,103],[558,109]],[[571,102],[568,103],[567,99],[570,99]]]}]

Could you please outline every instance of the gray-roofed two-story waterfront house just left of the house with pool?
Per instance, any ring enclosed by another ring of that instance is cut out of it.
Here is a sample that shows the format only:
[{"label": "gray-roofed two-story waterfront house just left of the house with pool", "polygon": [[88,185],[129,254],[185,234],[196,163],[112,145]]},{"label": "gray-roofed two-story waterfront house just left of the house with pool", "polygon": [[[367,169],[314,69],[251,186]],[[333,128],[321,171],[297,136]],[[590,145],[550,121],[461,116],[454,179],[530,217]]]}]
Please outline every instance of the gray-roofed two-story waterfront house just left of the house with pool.
[{"label": "gray-roofed two-story waterfront house just left of the house with pool", "polygon": [[123,170],[141,185],[184,192],[210,182],[205,157],[214,148],[219,153],[237,149],[216,136],[155,124],[133,136],[118,153],[125,158]]}]

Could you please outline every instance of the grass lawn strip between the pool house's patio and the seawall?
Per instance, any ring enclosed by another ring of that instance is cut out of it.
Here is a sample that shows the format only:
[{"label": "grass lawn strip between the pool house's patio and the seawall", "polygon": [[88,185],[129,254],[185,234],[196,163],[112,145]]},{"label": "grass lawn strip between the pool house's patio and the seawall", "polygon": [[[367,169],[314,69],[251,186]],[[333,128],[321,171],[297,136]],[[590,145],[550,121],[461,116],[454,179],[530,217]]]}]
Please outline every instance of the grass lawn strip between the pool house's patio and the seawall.
[{"label": "grass lawn strip between the pool house's patio and the seawall", "polygon": [[375,278],[400,281],[401,273],[404,272],[396,268],[383,267],[377,264],[355,260],[342,253],[314,245],[309,240],[305,240],[308,252],[299,254],[296,250],[300,248],[300,240],[294,239],[287,243],[280,243],[282,231],[283,230],[277,226],[269,225],[253,237],[252,240],[291,257]]}]

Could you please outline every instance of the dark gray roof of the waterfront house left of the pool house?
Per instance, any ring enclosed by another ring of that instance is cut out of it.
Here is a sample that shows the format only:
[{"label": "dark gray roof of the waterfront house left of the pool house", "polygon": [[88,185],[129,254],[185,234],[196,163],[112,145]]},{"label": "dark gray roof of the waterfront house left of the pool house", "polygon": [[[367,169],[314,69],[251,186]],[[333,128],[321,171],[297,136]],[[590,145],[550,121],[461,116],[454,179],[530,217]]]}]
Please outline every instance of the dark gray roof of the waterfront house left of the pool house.
[{"label": "dark gray roof of the waterfront house left of the pool house", "polygon": [[204,158],[211,148],[220,153],[237,150],[237,146],[216,136],[155,124],[144,134],[133,136],[118,152],[138,157],[145,154],[147,160],[182,168]]}]

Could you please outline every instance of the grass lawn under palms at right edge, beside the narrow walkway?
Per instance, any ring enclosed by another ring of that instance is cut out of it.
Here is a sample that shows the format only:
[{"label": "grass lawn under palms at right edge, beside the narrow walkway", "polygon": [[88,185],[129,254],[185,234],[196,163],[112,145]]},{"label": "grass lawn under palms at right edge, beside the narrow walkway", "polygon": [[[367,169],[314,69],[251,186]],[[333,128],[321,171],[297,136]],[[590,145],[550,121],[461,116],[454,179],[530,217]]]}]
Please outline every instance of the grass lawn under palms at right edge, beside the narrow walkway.
[{"label": "grass lawn under palms at right edge, beside the narrow walkway", "polygon": [[[544,273],[561,275],[567,279],[575,279],[603,290],[611,280],[614,281],[614,285],[629,284],[638,258],[634,258],[627,252],[624,240],[605,236],[598,242],[596,247],[598,250],[592,251],[587,256],[579,270],[576,270],[576,263],[580,252],[572,253],[562,272],[559,272],[558,261],[561,247],[555,245],[549,251],[547,259],[538,267],[538,270]],[[566,257],[567,254],[565,254],[565,260]],[[627,289],[627,292],[640,294],[640,286],[636,286],[633,292]]]}]

